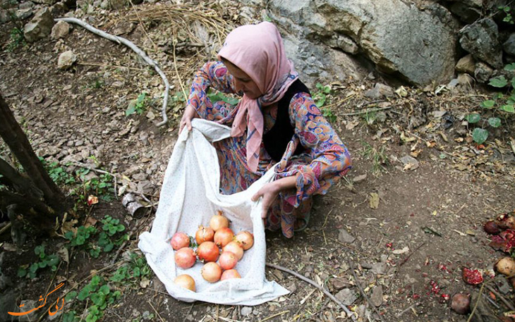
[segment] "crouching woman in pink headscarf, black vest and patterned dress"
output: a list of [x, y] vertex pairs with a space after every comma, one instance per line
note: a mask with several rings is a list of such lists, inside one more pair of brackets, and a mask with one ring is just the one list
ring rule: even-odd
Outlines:
[[[349, 151], [298, 80], [275, 25], [236, 28], [218, 58], [195, 74], [180, 131], [198, 117], [232, 126], [231, 137], [214, 143], [223, 194], [246, 190], [279, 162], [253, 201], [262, 197], [265, 227], [293, 237], [308, 224], [313, 194], [351, 168]], [[237, 106], [212, 102], [209, 87], [243, 97]]]

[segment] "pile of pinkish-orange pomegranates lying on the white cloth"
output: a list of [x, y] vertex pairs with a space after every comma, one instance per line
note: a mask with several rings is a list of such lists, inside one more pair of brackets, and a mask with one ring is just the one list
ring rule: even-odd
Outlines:
[[[223, 216], [222, 211], [218, 211], [210, 219], [208, 227], [199, 226], [195, 233], [195, 242], [196, 245], [191, 243], [190, 237], [182, 232], [171, 237], [175, 263], [180, 268], [190, 268], [197, 260], [202, 261], [202, 278], [209, 283], [215, 283], [229, 278], [241, 278], [235, 267], [241, 261], [243, 252], [253, 247], [254, 236], [248, 231], [235, 235], [229, 228], [229, 219]], [[178, 275], [174, 283], [195, 292], [195, 280], [188, 274]]]

